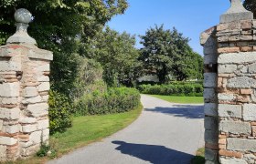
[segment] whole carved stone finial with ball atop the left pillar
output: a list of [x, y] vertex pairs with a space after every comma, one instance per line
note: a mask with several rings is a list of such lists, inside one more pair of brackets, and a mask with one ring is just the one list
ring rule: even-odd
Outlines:
[[27, 34], [28, 24], [33, 20], [33, 16], [31, 15], [31, 13], [25, 8], [20, 8], [16, 10], [15, 19], [16, 19], [16, 34], [13, 36], [10, 36], [7, 39], [7, 44], [27, 43], [31, 45], [37, 45], [36, 40], [28, 36]]

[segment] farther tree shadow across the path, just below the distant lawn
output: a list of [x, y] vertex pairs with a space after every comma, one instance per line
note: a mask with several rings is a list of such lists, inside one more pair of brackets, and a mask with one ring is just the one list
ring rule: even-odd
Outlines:
[[164, 113], [175, 117], [182, 118], [204, 118], [204, 106], [191, 105], [173, 105], [170, 108], [144, 108], [145, 111], [153, 111], [157, 113]]

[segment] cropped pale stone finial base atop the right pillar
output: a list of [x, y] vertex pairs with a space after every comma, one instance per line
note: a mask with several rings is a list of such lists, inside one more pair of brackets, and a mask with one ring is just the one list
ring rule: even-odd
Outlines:
[[220, 15], [220, 23], [229, 23], [237, 20], [253, 19], [253, 14], [243, 7], [240, 0], [229, 1], [231, 2], [231, 6], [224, 15]]

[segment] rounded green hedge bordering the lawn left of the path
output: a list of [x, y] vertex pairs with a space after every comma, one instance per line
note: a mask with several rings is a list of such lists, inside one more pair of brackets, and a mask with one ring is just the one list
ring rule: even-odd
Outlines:
[[75, 115], [103, 115], [129, 111], [140, 104], [140, 93], [134, 88], [114, 87], [85, 94], [74, 103]]

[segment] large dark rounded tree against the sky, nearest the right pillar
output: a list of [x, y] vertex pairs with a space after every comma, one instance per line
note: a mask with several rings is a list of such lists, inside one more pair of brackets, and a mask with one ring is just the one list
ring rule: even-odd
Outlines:
[[141, 38], [144, 47], [140, 60], [146, 74], [155, 73], [161, 84], [170, 79], [202, 79], [202, 56], [192, 51], [189, 39], [178, 33], [176, 28], [151, 27]]

